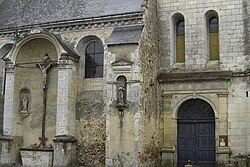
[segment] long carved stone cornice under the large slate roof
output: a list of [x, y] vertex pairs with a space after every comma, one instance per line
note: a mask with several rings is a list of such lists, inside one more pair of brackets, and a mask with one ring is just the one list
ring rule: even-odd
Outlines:
[[143, 24], [142, 12], [0, 29], [0, 38], [18, 38], [25, 36], [36, 26], [52, 33], [58, 33], [135, 24]]

